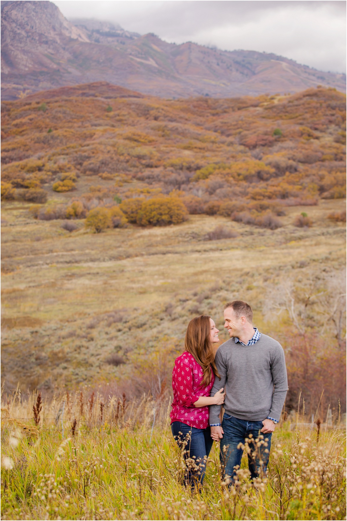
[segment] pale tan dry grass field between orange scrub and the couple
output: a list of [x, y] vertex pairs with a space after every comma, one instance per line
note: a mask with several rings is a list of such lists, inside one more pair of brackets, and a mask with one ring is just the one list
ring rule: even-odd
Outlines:
[[[305, 286], [317, 274], [343, 270], [345, 227], [327, 219], [343, 207], [343, 200], [289, 207], [277, 230], [190, 215], [181, 225], [95, 234], [82, 221], [70, 233], [60, 220], [33, 219], [30, 204], [4, 202], [5, 388], [18, 381], [22, 389], [46, 391], [120, 381], [138, 353], [162, 343], [181, 350], [187, 322], [199, 313], [211, 314], [223, 330], [222, 306], [230, 299], [250, 302], [255, 324], [278, 333], [290, 320], [264, 319], [274, 284], [290, 279]], [[293, 226], [303, 211], [310, 228]], [[218, 226], [236, 237], [206, 240]], [[112, 365], [114, 354], [127, 364]]]

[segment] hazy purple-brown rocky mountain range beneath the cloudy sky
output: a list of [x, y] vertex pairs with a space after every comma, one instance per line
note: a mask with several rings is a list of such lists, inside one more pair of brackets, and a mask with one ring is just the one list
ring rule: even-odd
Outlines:
[[1, 35], [4, 100], [96, 81], [160, 97], [293, 93], [317, 84], [345, 91], [343, 74], [275, 54], [175, 45], [109, 22], [70, 22], [46, 1], [2, 2]]

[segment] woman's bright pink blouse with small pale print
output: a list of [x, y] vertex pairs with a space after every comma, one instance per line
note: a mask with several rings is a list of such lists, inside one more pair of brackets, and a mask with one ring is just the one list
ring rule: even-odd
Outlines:
[[182, 421], [189, 427], [205, 429], [209, 425], [209, 407], [195, 407], [200, 396], [210, 396], [214, 383], [214, 374], [208, 386], [202, 387], [202, 367], [194, 356], [185, 351], [175, 360], [172, 371], [174, 400], [170, 414], [171, 423]]

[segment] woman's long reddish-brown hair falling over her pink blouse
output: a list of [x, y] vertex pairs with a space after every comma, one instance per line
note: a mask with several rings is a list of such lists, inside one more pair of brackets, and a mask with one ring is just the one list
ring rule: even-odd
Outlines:
[[207, 386], [210, 383], [212, 378], [211, 369], [215, 376], [221, 378], [214, 362], [210, 332], [210, 317], [200, 315], [190, 320], [184, 340], [185, 350], [194, 356], [195, 360], [202, 367], [202, 386]]

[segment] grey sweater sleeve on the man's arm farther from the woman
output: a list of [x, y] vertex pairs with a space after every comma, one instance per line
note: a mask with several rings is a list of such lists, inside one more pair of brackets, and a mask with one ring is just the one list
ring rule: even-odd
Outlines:
[[268, 416], [279, 420], [288, 391], [285, 352], [280, 344], [278, 344], [272, 356], [271, 373], [274, 380], [274, 393]]

